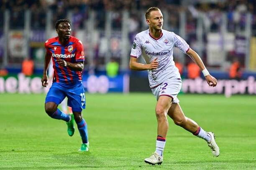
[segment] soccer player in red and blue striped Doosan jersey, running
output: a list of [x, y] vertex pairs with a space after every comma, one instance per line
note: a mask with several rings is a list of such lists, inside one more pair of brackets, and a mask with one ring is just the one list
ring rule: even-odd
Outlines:
[[[83, 45], [79, 39], [70, 36], [70, 20], [56, 21], [55, 28], [58, 36], [45, 42], [46, 55], [41, 80], [44, 87], [48, 85], [46, 70], [51, 59], [54, 67], [53, 83], [46, 96], [45, 111], [50, 117], [67, 122], [69, 136], [74, 134], [75, 120], [82, 138], [82, 145], [79, 150], [88, 151], [87, 123], [82, 117], [82, 109], [85, 109], [84, 87], [82, 85]], [[65, 97], [68, 98], [68, 106], [72, 107], [73, 113], [65, 114], [57, 108]]]

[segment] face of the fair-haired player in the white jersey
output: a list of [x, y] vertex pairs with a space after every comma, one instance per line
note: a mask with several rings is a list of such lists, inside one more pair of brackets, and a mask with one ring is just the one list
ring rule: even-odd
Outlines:
[[151, 11], [150, 17], [146, 21], [150, 28], [153, 28], [155, 30], [161, 30], [163, 27], [164, 19], [161, 11], [157, 10], [157, 11]]

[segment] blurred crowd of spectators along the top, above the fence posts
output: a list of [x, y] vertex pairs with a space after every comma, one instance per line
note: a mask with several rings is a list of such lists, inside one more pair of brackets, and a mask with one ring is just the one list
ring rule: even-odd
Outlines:
[[[22, 13], [26, 9], [31, 9], [33, 13], [32, 28], [45, 27], [45, 15], [49, 9], [54, 10], [53, 21], [59, 18], [65, 18], [67, 11], [74, 10], [74, 28], [82, 28], [83, 20], [88, 17], [89, 10], [97, 11], [97, 27], [104, 27], [105, 11], [111, 10], [120, 12], [122, 10], [129, 10], [132, 13], [131, 18], [135, 22], [131, 30], [136, 30], [142, 25], [141, 20], [136, 19], [138, 10], [146, 10], [148, 7], [156, 6], [172, 11], [172, 14], [167, 18], [170, 21], [171, 27], [175, 30], [179, 25], [179, 11], [184, 10], [188, 15], [187, 31], [193, 32], [195, 30], [195, 20], [198, 13], [205, 13], [207, 20], [206, 25], [211, 31], [218, 31], [221, 25], [222, 12], [227, 12], [228, 15], [228, 30], [235, 31], [235, 26], [239, 25], [241, 28], [245, 27], [245, 14], [250, 12], [253, 14], [252, 30], [253, 35], [256, 35], [256, 5], [255, 0], [226, 0], [226, 1], [202, 1], [202, 0], [2, 0], [1, 13], [5, 9], [11, 10], [13, 28], [23, 27], [24, 17]], [[113, 15], [113, 27], [121, 27], [121, 16]], [[2, 18], [1, 18], [2, 19]], [[1, 21], [3, 23], [3, 21]], [[138, 30], [136, 30], [138, 31]]]

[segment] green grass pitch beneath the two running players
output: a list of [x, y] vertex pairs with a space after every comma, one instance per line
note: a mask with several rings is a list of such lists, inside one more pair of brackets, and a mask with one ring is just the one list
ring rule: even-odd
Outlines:
[[218, 158], [204, 140], [169, 119], [164, 162], [144, 163], [155, 150], [157, 135], [156, 100], [150, 93], [86, 94], [88, 153], [77, 151], [77, 128], [69, 137], [66, 123], [44, 112], [45, 95], [0, 94], [0, 170], [256, 169], [255, 95], [178, 97], [187, 117], [215, 133]]

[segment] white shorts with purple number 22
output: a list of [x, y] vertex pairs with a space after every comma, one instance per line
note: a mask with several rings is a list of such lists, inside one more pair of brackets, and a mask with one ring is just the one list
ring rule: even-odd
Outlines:
[[178, 103], [179, 99], [177, 95], [181, 89], [182, 81], [181, 79], [168, 79], [162, 82], [160, 85], [152, 88], [152, 93], [156, 96], [156, 100], [159, 99], [159, 96], [165, 95], [172, 97], [173, 103]]

